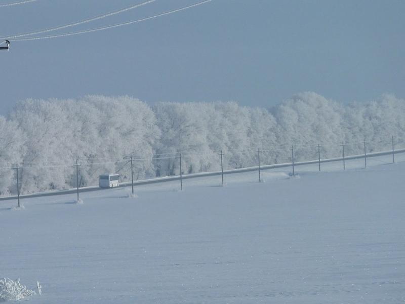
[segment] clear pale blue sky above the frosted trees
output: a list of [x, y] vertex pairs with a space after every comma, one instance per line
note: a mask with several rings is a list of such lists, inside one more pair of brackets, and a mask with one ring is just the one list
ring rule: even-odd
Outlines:
[[[157, 0], [68, 30], [191, 4]], [[0, 4], [14, 2], [1, 0]], [[37, 0], [0, 8], [0, 35], [57, 26], [141, 0]], [[302, 91], [339, 102], [405, 97], [405, 1], [211, 3], [142, 23], [0, 51], [0, 113], [26, 98], [130, 95], [269, 107]]]

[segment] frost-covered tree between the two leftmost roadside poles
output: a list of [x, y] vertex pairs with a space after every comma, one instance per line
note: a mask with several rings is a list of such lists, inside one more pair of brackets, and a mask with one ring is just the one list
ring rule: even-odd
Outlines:
[[[20, 170], [21, 192], [44, 191], [65, 185], [65, 144], [71, 134], [66, 130], [66, 115], [58, 102], [26, 100], [11, 115], [25, 134]], [[31, 168], [26, 168], [31, 167]]]

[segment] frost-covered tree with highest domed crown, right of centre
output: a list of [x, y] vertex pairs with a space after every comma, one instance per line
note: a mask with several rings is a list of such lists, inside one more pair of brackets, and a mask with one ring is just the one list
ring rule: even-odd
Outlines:
[[277, 162], [286, 161], [292, 144], [297, 147], [297, 160], [314, 159], [317, 144], [322, 146], [323, 158], [337, 156], [337, 145], [344, 140], [342, 105], [305, 92], [274, 107], [272, 112], [277, 120], [276, 140], [279, 145], [288, 145], [276, 154]]

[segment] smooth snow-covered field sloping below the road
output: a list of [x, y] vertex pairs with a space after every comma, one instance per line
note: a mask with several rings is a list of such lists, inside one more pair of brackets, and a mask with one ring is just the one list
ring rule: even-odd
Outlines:
[[31, 303], [404, 302], [405, 162], [389, 162], [0, 202], [0, 277], [41, 281]]

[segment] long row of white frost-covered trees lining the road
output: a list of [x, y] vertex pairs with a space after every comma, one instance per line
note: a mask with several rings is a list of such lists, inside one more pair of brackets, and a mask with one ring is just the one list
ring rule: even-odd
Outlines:
[[311, 92], [270, 109], [234, 102], [159, 103], [87, 96], [77, 100], [26, 100], [7, 118], [0, 116], [0, 195], [16, 193], [16, 163], [22, 193], [97, 184], [99, 174], [117, 172], [136, 179], [241, 168], [340, 155], [342, 141], [368, 152], [387, 147], [391, 136], [405, 137], [405, 103], [391, 95], [368, 104], [342, 105]]

